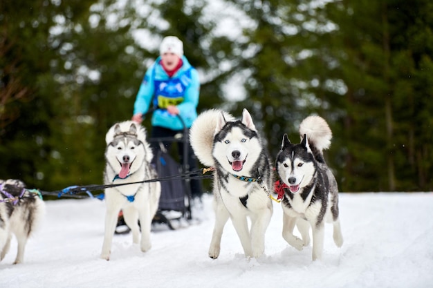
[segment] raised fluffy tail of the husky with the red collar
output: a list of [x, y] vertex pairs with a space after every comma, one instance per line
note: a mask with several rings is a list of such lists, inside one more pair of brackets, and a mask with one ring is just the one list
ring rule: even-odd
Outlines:
[[322, 152], [331, 146], [332, 131], [328, 123], [320, 116], [308, 116], [300, 124], [301, 139], [306, 134], [308, 144]]

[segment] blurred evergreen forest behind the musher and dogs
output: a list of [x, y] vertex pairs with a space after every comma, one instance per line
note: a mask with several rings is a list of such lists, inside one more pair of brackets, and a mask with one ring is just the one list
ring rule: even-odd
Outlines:
[[0, 1], [0, 178], [101, 184], [105, 133], [167, 35], [199, 112], [247, 108], [273, 159], [315, 114], [340, 191], [433, 190], [431, 0]]

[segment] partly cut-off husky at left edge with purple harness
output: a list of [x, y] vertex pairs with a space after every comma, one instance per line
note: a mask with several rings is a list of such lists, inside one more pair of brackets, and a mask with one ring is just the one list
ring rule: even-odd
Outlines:
[[[45, 213], [44, 201], [25, 188], [20, 180], [0, 180], [0, 260], [3, 260], [9, 251], [13, 233], [18, 242], [14, 264], [24, 262], [27, 240], [39, 227]], [[17, 197], [20, 199], [5, 202], [7, 198]]]

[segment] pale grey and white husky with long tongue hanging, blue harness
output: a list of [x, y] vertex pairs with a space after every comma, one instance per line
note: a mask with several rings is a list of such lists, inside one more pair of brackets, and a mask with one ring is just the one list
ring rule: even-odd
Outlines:
[[[156, 171], [150, 164], [153, 153], [146, 141], [145, 128], [140, 124], [132, 121], [114, 124], [107, 132], [105, 141], [107, 163], [104, 184], [127, 184], [156, 178]], [[158, 209], [160, 192], [159, 182], [127, 184], [105, 189], [107, 213], [101, 258], [110, 258], [113, 233], [121, 209], [125, 222], [131, 228], [133, 243], [138, 244], [141, 228], [141, 251], [150, 249], [151, 221]]]

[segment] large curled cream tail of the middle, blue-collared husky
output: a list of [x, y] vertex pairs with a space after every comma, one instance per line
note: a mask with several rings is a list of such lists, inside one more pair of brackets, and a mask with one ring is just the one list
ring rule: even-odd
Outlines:
[[199, 158], [201, 164], [214, 166], [212, 147], [214, 135], [219, 117], [223, 113], [226, 121], [233, 121], [234, 117], [219, 109], [204, 111], [197, 117], [190, 129], [190, 142], [194, 154]]

